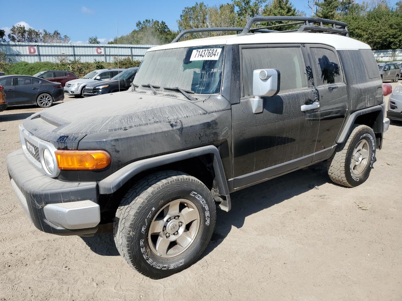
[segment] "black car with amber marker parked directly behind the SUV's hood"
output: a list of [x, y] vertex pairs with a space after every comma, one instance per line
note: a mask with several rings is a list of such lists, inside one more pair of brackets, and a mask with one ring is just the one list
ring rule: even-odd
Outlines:
[[107, 81], [89, 84], [85, 87], [82, 95], [88, 97], [128, 90], [133, 82], [137, 70], [138, 67], [131, 67]]

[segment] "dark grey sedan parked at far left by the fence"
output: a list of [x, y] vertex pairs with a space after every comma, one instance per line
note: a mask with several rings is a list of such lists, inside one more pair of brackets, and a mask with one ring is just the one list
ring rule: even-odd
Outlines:
[[53, 102], [64, 99], [60, 83], [28, 75], [0, 76], [0, 84], [6, 92], [8, 106], [37, 104], [41, 108], [50, 107]]

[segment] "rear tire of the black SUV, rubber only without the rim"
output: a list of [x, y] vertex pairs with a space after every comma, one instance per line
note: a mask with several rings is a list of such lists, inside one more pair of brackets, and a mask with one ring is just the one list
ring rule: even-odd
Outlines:
[[[359, 176], [351, 170], [353, 150], [362, 139], [367, 140], [369, 146], [368, 163]], [[332, 157], [327, 161], [328, 175], [336, 183], [346, 187], [356, 187], [364, 183], [369, 177], [371, 167], [375, 161], [375, 134], [369, 126], [355, 125], [345, 143], [336, 146]]]

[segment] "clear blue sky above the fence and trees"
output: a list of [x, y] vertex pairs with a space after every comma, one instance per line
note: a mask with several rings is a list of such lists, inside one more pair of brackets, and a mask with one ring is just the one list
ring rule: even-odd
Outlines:
[[[358, 0], [361, 3], [362, 0]], [[390, 0], [394, 4], [397, 0]], [[58, 30], [62, 35], [68, 35], [71, 42], [86, 43], [88, 37], [97, 36], [101, 43], [107, 43], [117, 36], [117, 19], [119, 35], [126, 35], [135, 28], [138, 20], [163, 20], [177, 30], [180, 13], [185, 6], [192, 6], [192, 0], [98, 0], [78, 1], [26, 1], [18, 3], [4, 1], [1, 5], [0, 28], [8, 31], [16, 23], [24, 24], [26, 28], [47, 31]], [[201, 1], [198, 1], [201, 2]], [[204, 0], [210, 6], [230, 2], [219, 0]], [[293, 0], [298, 10], [307, 11], [307, 0]]]

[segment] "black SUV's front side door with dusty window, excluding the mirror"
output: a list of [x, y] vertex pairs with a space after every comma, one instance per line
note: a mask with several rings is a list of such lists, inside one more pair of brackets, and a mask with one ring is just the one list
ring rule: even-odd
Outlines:
[[[263, 112], [254, 114], [252, 73], [266, 68], [279, 70], [280, 92], [263, 98]], [[234, 187], [312, 162], [320, 115], [318, 109], [302, 110], [318, 100], [308, 70], [302, 45], [240, 46], [241, 98], [232, 105]]]

